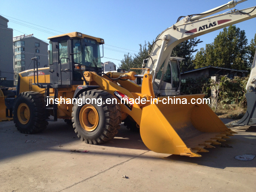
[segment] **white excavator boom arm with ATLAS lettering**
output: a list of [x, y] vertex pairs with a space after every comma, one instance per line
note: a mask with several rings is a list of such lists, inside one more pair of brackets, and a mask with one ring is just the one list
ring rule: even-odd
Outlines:
[[[256, 17], [256, 7], [251, 7], [243, 10], [233, 9], [222, 14], [202, 18], [227, 8], [233, 8], [238, 3], [242, 2], [244, 1], [231, 1], [223, 6], [198, 14], [197, 16], [186, 16], [185, 18], [178, 20], [176, 24], [167, 28], [158, 36], [150, 54], [152, 59], [148, 59], [145, 66], [145, 68], [152, 69], [151, 74], [153, 75], [155, 94], [167, 96], [169, 95], [168, 93], [170, 93], [168, 89], [165, 89], [166, 86], [161, 87], [162, 78], [156, 79], [156, 74], [160, 71], [160, 68], [164, 63], [161, 70], [162, 76], [164, 76], [167, 71], [168, 58], [170, 58], [175, 46], [185, 40]], [[146, 72], [144, 72], [144, 74], [145, 73]], [[156, 91], [159, 90], [159, 87], [160, 92]], [[172, 87], [172, 85], [170, 84], [168, 87]]]

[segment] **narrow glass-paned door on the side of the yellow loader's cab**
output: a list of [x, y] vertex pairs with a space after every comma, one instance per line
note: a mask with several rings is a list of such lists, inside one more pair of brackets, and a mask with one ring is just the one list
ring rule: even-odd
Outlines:
[[71, 86], [70, 40], [59, 39], [58, 45], [58, 84]]

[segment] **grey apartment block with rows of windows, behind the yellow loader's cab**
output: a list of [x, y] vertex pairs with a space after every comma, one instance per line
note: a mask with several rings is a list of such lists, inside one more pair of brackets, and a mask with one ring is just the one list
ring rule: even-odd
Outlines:
[[14, 84], [17, 84], [18, 73], [34, 69], [34, 61], [31, 58], [37, 57], [38, 68], [48, 66], [48, 45], [33, 34], [13, 37]]

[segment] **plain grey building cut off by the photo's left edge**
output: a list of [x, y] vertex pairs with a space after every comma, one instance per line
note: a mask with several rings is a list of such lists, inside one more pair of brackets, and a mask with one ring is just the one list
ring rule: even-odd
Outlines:
[[13, 86], [13, 29], [8, 28], [9, 20], [0, 15], [0, 86]]

